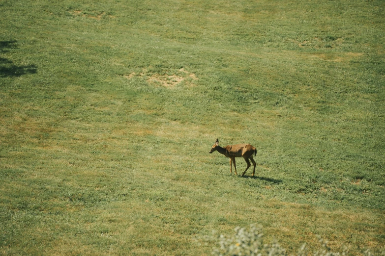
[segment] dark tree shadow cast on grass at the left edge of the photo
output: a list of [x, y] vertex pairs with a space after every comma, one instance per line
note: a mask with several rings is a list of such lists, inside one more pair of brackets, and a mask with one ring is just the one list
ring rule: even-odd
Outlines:
[[[16, 41], [0, 41], [0, 52], [7, 52], [8, 49], [16, 48]], [[37, 73], [37, 66], [16, 65], [12, 60], [0, 58], [0, 77], [20, 77], [26, 74]]]

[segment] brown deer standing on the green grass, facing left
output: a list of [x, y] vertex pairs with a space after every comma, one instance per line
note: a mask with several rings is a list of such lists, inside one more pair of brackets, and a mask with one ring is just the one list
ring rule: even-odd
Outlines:
[[234, 169], [236, 170], [237, 175], [237, 167], [235, 163], [236, 157], [243, 157], [247, 163], [246, 170], [242, 173], [241, 177], [245, 175], [247, 169], [251, 166], [249, 159], [254, 165], [253, 175], [255, 173], [255, 166], [257, 163], [253, 159], [254, 156], [257, 155], [257, 149], [251, 146], [250, 144], [236, 144], [236, 145], [228, 145], [225, 148], [222, 148], [219, 146], [219, 140], [216, 139], [214, 145], [212, 145], [212, 148], [209, 153], [213, 153], [214, 151], [218, 151], [220, 154], [224, 154], [226, 157], [230, 158], [230, 173], [233, 173], [231, 163], [234, 163]]

